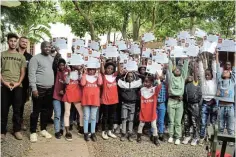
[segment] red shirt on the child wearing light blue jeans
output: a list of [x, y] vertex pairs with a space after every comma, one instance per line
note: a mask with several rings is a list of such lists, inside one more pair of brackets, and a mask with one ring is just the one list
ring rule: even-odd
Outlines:
[[102, 85], [102, 77], [84, 74], [81, 79], [83, 86], [83, 106], [100, 106], [100, 86]]

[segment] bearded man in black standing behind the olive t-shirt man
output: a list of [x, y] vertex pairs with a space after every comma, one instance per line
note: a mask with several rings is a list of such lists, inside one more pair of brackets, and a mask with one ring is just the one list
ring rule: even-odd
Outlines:
[[27, 37], [20, 37], [18, 52], [25, 56], [25, 60], [27, 63], [25, 78], [22, 82], [23, 91], [22, 91], [22, 105], [21, 105], [21, 112], [20, 112], [21, 129], [24, 131], [26, 131], [26, 129], [27, 129], [23, 123], [24, 106], [27, 101], [27, 97], [29, 96], [28, 63], [29, 63], [30, 59], [32, 58], [32, 55], [27, 52], [27, 45], [28, 45], [28, 38]]

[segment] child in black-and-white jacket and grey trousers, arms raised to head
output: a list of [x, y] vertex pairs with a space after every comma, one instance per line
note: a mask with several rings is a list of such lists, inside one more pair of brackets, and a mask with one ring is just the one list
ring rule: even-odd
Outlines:
[[142, 80], [137, 79], [133, 72], [127, 72], [123, 79], [118, 80], [121, 97], [121, 119], [122, 119], [122, 135], [121, 141], [125, 140], [126, 136], [126, 122], [129, 121], [128, 140], [132, 140], [133, 121], [135, 113], [135, 104], [138, 99], [138, 90], [142, 85]]

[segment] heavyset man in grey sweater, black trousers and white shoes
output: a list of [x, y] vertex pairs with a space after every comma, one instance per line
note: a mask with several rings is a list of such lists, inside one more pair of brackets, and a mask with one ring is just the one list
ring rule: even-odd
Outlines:
[[37, 122], [40, 113], [41, 135], [45, 138], [51, 138], [46, 131], [48, 110], [52, 104], [52, 87], [54, 84], [54, 75], [52, 70], [53, 58], [51, 54], [51, 45], [44, 41], [41, 43], [41, 53], [31, 58], [29, 63], [29, 82], [33, 93], [33, 112], [30, 115], [30, 141], [37, 141]]

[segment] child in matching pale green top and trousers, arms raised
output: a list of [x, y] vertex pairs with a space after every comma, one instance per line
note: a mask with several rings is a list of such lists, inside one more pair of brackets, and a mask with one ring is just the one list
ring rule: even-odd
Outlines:
[[176, 67], [173, 70], [172, 61], [169, 60], [168, 82], [169, 82], [169, 100], [167, 106], [167, 112], [169, 116], [169, 143], [173, 143], [173, 135], [175, 135], [175, 144], [180, 144], [181, 137], [181, 120], [183, 116], [183, 94], [185, 79], [188, 74], [188, 60], [184, 61], [182, 70]]

